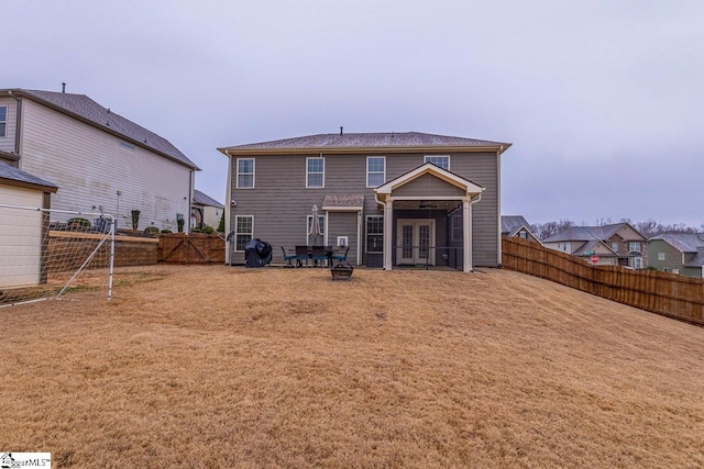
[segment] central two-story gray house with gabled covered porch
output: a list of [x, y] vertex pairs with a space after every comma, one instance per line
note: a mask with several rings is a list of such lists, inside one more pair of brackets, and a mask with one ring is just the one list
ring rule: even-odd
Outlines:
[[[353, 265], [501, 265], [506, 143], [409, 133], [320, 134], [219, 148], [230, 158], [228, 256], [252, 237], [290, 249], [349, 247]], [[235, 259], [237, 260], [237, 259]], [[228, 259], [232, 264], [232, 259]]]

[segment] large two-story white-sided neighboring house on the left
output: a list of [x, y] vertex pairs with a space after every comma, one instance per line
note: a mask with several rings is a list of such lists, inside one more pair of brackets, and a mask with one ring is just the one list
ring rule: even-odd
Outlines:
[[0, 89], [0, 160], [56, 183], [53, 209], [102, 209], [118, 227], [132, 227], [131, 212], [139, 210], [140, 230], [176, 231], [178, 219], [188, 230], [199, 168], [165, 138], [87, 96]]

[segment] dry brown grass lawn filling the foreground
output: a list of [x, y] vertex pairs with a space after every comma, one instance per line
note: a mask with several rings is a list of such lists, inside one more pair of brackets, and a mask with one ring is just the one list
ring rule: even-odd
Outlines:
[[504, 270], [119, 269], [0, 310], [55, 467], [703, 467], [704, 328]]

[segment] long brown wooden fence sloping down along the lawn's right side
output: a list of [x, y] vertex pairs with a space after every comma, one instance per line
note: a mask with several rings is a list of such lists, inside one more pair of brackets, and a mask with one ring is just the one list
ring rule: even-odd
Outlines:
[[704, 325], [704, 279], [586, 261], [521, 238], [503, 238], [507, 269], [552, 280], [587, 293]]

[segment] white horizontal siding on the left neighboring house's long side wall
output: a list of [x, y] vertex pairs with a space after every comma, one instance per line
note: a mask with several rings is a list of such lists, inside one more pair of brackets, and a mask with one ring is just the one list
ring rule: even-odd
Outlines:
[[96, 212], [102, 205], [119, 227], [132, 227], [132, 210], [142, 212], [140, 228], [176, 231], [176, 214], [189, 217], [188, 168], [34, 101], [23, 105], [20, 167], [59, 187], [53, 209]]

